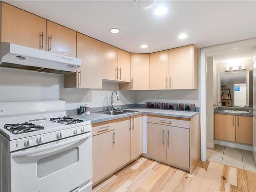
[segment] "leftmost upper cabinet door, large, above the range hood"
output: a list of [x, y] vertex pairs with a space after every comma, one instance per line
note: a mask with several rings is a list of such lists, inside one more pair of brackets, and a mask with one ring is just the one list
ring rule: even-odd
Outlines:
[[1, 41], [46, 50], [46, 19], [2, 2]]

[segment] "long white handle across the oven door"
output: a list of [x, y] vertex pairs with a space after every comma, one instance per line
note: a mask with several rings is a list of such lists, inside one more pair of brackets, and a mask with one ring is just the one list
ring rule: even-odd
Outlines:
[[[77, 142], [79, 142], [83, 139], [89, 138], [91, 135], [92, 135], [91, 133], [86, 133], [83, 136], [77, 137], [77, 138], [72, 139], [72, 140], [68, 140], [68, 141], [64, 141], [64, 142], [61, 142], [61, 143], [53, 144], [53, 145], [46, 146], [46, 147], [43, 147], [43, 148], [37, 148], [35, 150], [31, 150], [31, 151], [27, 151], [27, 152], [22, 152], [22, 153], [17, 153], [17, 154], [14, 153], [12, 155], [12, 158], [22, 158], [22, 157], [29, 156], [29, 155], [32, 155], [32, 154], [34, 155], [34, 154], [37, 154], [37, 153], [40, 153], [40, 152], [45, 152], [45, 151], [48, 151], [48, 150], [52, 150], [53, 148], [61, 147], [63, 145], [74, 144], [74, 143], [77, 143]], [[59, 151], [62, 148], [59, 148], [56, 151]]]

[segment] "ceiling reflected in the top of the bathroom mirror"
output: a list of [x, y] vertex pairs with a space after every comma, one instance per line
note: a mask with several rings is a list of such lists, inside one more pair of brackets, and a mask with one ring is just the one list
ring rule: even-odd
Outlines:
[[245, 82], [246, 72], [233, 72], [220, 74], [221, 82]]

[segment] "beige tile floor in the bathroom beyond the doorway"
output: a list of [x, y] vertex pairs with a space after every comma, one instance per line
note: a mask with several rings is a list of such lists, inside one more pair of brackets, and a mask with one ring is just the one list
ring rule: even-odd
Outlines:
[[213, 150], [207, 148], [207, 160], [256, 172], [252, 152], [239, 148], [215, 145]]

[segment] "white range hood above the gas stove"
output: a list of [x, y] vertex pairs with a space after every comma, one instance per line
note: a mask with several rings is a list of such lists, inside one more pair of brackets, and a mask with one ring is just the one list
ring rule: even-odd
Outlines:
[[0, 67], [67, 74], [81, 66], [81, 59], [63, 56], [44, 50], [2, 42]]

